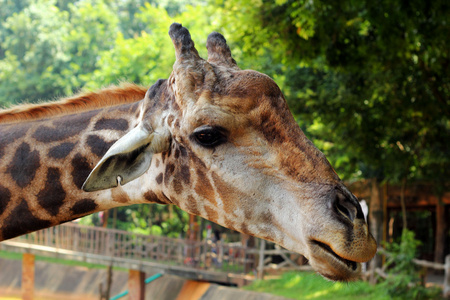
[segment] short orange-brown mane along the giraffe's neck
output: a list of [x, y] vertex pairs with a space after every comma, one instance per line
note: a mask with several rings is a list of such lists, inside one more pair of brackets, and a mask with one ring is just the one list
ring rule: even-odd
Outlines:
[[0, 110], [0, 123], [42, 119], [105, 106], [132, 103], [144, 98], [147, 87], [122, 83], [98, 91], [81, 92], [54, 102], [22, 104]]

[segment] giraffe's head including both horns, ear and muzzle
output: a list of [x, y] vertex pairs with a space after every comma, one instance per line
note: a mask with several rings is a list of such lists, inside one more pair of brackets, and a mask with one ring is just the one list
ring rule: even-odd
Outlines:
[[186, 28], [172, 24], [169, 35], [172, 74], [149, 89], [138, 125], [83, 188], [133, 180], [149, 200], [302, 253], [329, 279], [356, 279], [376, 243], [357, 199], [298, 127], [276, 83], [240, 70], [218, 33], [208, 37], [208, 60]]

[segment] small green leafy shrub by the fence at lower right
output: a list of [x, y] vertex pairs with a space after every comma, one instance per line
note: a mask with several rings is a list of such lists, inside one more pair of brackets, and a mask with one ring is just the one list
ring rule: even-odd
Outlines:
[[420, 244], [414, 232], [405, 229], [399, 242], [385, 245], [384, 268], [387, 268], [388, 277], [380, 287], [394, 299], [440, 299], [439, 289], [425, 288], [420, 284], [419, 268], [413, 263]]

